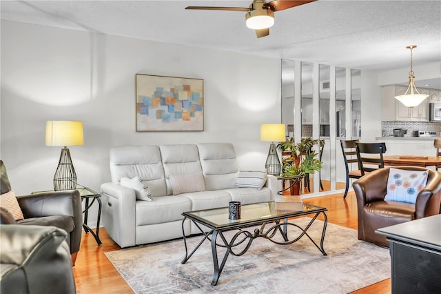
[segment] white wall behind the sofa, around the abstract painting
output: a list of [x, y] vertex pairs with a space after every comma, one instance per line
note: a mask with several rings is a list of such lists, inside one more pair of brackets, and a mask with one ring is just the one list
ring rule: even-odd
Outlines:
[[[136, 73], [204, 79], [205, 131], [136, 133]], [[112, 146], [231, 142], [240, 168], [264, 168], [280, 59], [2, 21], [0, 156], [17, 195], [52, 188], [61, 147], [44, 144], [48, 120], [83, 121], [70, 153], [78, 183], [97, 191]]]

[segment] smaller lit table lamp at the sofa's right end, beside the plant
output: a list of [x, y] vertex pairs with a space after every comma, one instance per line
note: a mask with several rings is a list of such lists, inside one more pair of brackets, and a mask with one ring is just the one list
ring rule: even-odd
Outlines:
[[268, 175], [280, 175], [280, 161], [276, 151], [275, 141], [285, 141], [285, 124], [262, 124], [260, 126], [260, 141], [270, 141], [265, 168]]

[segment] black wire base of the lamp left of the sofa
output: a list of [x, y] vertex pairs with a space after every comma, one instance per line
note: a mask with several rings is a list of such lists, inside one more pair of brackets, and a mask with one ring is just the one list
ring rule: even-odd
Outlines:
[[70, 158], [69, 148], [64, 147], [61, 149], [60, 161], [54, 175], [54, 190], [74, 189], [76, 189], [76, 173]]

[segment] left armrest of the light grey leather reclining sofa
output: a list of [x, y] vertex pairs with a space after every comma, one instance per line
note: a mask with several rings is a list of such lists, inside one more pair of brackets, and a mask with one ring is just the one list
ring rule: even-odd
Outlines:
[[110, 237], [122, 248], [135, 246], [136, 196], [132, 188], [116, 183], [101, 184], [103, 223]]

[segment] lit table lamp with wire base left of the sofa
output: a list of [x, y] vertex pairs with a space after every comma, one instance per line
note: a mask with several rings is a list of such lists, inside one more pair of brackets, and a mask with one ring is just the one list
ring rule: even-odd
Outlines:
[[46, 121], [46, 146], [63, 146], [54, 175], [54, 190], [76, 189], [76, 173], [67, 146], [83, 145], [83, 121]]

